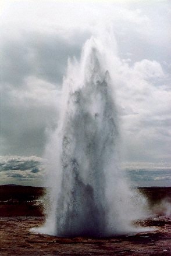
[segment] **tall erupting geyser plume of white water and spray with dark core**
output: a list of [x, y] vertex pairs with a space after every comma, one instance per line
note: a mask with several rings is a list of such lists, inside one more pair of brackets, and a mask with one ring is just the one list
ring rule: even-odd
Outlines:
[[132, 232], [131, 222], [142, 217], [143, 199], [129, 189], [118, 166], [110, 54], [91, 38], [80, 62], [69, 63], [58, 129], [47, 147], [50, 205], [40, 232], [111, 236]]

